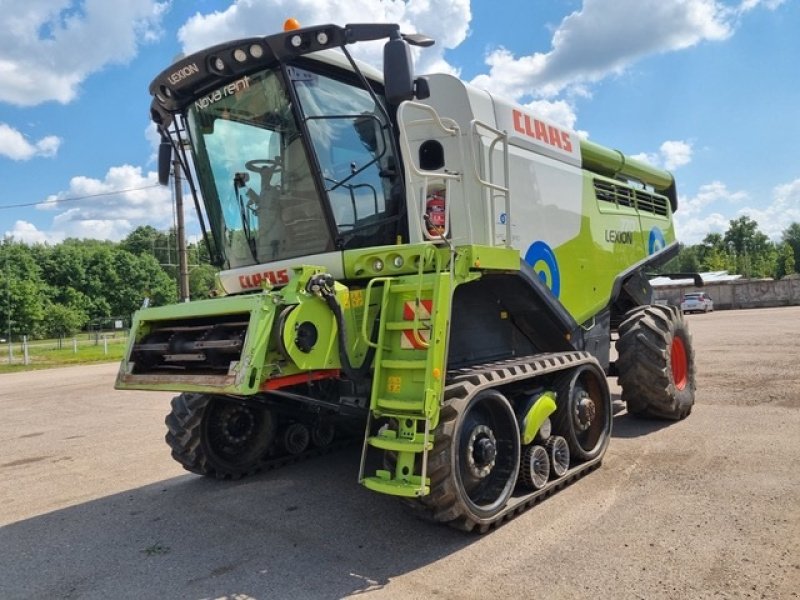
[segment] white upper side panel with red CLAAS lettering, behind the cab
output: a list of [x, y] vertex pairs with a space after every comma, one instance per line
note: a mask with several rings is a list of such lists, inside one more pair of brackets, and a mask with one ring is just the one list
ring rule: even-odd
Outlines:
[[[428, 82], [431, 96], [422, 103], [431, 106], [445, 124], [452, 120], [457, 134], [445, 134], [424, 111], [405, 112], [402, 127], [408, 146], [404, 154], [410, 156], [404, 158], [407, 181], [412, 182], [408, 194], [413, 198], [409, 203], [411, 241], [425, 239], [419, 225], [425, 208], [419, 188], [430, 187], [436, 173], [426, 173], [427, 178], [421, 180], [419, 174], [414, 176], [408, 163], [419, 165], [420, 144], [430, 139], [436, 139], [444, 148], [445, 166], [438, 172], [458, 175], [449, 181], [448, 190], [452, 208], [449, 237], [453, 243], [506, 243], [509, 216], [505, 198], [485, 182], [508, 188], [513, 215], [510, 245], [522, 256], [536, 241], [555, 248], [576, 237], [581, 226], [583, 185], [577, 134], [453, 76], [431, 75]], [[425, 119], [430, 123], [420, 124]], [[476, 127], [476, 122], [507, 135], [507, 181], [502, 144], [496, 144], [490, 156], [495, 136], [486, 128]]]

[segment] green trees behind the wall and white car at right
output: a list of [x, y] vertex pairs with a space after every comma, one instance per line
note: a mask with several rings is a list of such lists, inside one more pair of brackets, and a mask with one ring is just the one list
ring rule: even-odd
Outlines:
[[682, 245], [659, 271], [728, 271], [748, 279], [782, 279], [800, 272], [800, 223], [789, 225], [780, 241], [773, 242], [750, 217], [733, 219], [725, 233], [709, 233], [700, 244]]

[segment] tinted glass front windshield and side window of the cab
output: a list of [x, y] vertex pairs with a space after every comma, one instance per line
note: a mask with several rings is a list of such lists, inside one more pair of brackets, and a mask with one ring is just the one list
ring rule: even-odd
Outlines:
[[282, 75], [271, 70], [202, 96], [188, 111], [197, 178], [225, 268], [391, 243], [392, 228], [383, 226], [393, 221], [393, 161], [372, 96], [325, 75], [288, 72], [299, 115]]

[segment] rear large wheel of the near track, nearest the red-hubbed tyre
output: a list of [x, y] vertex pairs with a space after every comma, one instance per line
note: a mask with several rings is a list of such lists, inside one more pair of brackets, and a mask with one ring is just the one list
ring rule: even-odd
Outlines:
[[577, 460], [600, 456], [608, 445], [612, 420], [605, 373], [597, 365], [581, 365], [562, 375], [555, 388], [554, 433], [566, 439], [570, 456]]

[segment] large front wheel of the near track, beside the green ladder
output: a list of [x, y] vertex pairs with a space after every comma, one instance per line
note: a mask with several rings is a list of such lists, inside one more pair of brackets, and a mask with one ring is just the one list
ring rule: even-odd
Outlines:
[[436, 521], [488, 526], [517, 483], [519, 424], [500, 392], [484, 390], [443, 407], [429, 454], [431, 493], [418, 503]]

